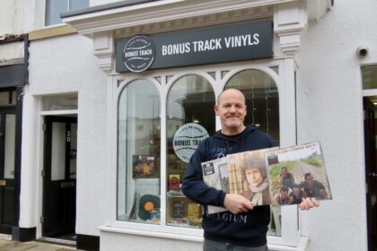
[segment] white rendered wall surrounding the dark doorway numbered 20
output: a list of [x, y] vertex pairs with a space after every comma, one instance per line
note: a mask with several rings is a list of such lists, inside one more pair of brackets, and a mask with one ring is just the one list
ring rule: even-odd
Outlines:
[[[92, 39], [81, 35], [69, 35], [52, 39], [31, 41], [30, 46], [30, 85], [25, 95], [39, 100], [39, 95], [78, 92], [78, 129], [77, 129], [77, 211], [76, 232], [85, 235], [99, 236], [98, 226], [103, 224], [106, 204], [103, 198], [106, 193], [106, 78], [101, 72], [97, 58], [92, 54]], [[31, 102], [28, 101], [28, 104]], [[31, 110], [40, 110], [38, 105], [23, 108], [23, 117], [28, 119]], [[39, 114], [36, 113], [35, 119]], [[30, 126], [27, 129], [25, 127]], [[37, 128], [33, 128], [36, 127]], [[38, 127], [39, 126], [39, 127]], [[40, 125], [24, 124], [26, 131], [40, 132]], [[22, 154], [22, 163], [27, 163], [27, 158], [36, 158], [40, 155], [42, 143], [35, 147], [31, 137], [22, 135], [22, 143], [34, 146], [23, 152], [34, 151], [32, 154]], [[42, 163], [39, 163], [41, 165]], [[22, 166], [23, 169], [23, 166]], [[22, 176], [22, 186], [29, 183], [35, 187], [38, 184], [39, 166], [32, 167], [33, 175], [25, 180]], [[22, 187], [22, 195], [27, 190]], [[37, 193], [35, 194], [37, 196]], [[29, 214], [38, 205], [38, 200], [27, 200], [21, 196], [21, 227], [22, 222], [29, 222], [23, 216]], [[36, 221], [37, 217], [34, 218]], [[34, 222], [38, 224], [38, 222]], [[35, 226], [35, 225], [34, 225]]]

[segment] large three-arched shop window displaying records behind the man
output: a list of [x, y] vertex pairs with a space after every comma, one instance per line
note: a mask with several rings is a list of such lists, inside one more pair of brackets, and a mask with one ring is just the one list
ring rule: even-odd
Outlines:
[[[245, 125], [258, 126], [277, 145], [294, 144], [292, 74], [280, 76], [279, 66], [246, 67], [238, 71], [224, 67], [215, 74], [213, 70], [184, 75], [169, 71], [161, 75], [145, 74], [145, 79], [117, 80], [116, 226], [183, 236], [202, 235], [197, 229], [201, 228], [203, 207], [181, 193], [181, 180], [196, 149], [192, 139], [201, 142], [220, 129], [214, 111], [215, 96], [225, 89], [237, 88], [245, 94], [248, 107]], [[285, 79], [285, 75], [289, 78]], [[285, 91], [281, 93], [280, 82], [285, 82]], [[203, 134], [191, 135], [188, 132], [192, 128], [199, 128]], [[272, 208], [269, 243], [294, 246], [298, 226], [297, 207], [281, 211]]]

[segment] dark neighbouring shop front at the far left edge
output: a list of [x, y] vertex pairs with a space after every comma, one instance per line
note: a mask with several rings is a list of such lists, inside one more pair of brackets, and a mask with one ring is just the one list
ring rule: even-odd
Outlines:
[[20, 228], [18, 222], [27, 45], [27, 36], [8, 36], [0, 41], [0, 235], [16, 240], [30, 238], [30, 229]]

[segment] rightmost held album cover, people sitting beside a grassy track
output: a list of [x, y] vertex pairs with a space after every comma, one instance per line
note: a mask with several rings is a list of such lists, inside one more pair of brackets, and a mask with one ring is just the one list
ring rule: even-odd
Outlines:
[[332, 198], [320, 143], [306, 143], [266, 154], [273, 205], [297, 204], [304, 197]]

